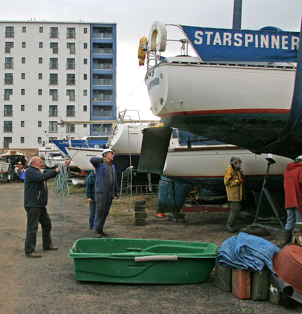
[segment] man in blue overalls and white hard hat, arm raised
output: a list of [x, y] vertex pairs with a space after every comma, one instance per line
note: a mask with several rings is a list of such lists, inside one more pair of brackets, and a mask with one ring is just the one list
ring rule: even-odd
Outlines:
[[113, 151], [111, 149], [104, 149], [102, 156], [103, 158], [92, 157], [90, 159], [96, 172], [96, 215], [93, 224], [94, 238], [108, 236], [107, 233], [103, 231], [103, 226], [114, 196], [116, 196], [117, 199], [120, 196], [118, 194], [117, 174], [112, 164], [114, 158]]

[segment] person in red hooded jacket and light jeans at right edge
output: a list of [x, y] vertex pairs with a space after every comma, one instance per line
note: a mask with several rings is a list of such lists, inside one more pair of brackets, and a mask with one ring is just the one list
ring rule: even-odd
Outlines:
[[288, 164], [284, 171], [285, 208], [285, 245], [291, 242], [292, 230], [296, 222], [302, 222], [302, 155]]

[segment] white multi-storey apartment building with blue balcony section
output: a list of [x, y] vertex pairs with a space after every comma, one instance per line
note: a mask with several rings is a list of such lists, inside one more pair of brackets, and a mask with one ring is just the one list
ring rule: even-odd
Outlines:
[[36, 149], [68, 133], [90, 135], [89, 124], [68, 132], [58, 123], [104, 120], [114, 112], [115, 24], [0, 21], [0, 30], [2, 149]]

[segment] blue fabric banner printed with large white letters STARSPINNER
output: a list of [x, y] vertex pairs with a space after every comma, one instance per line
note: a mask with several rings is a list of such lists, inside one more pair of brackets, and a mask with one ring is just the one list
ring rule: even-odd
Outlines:
[[299, 32], [180, 27], [206, 62], [297, 62]]

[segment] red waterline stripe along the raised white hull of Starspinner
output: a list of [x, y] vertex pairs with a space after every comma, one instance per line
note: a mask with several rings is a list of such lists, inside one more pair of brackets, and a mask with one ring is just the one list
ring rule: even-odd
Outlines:
[[222, 115], [222, 114], [257, 114], [257, 113], [281, 113], [289, 114], [289, 109], [221, 109], [221, 110], [197, 110], [197, 111], [180, 111], [180, 112], [170, 112], [159, 115], [161, 118], [169, 116], [196, 116], [196, 115]]

